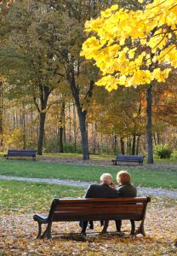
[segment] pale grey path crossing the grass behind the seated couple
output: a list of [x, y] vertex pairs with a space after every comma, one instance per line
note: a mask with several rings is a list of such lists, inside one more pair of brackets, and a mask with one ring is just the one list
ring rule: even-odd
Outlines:
[[[76, 186], [83, 187], [84, 189], [88, 188], [90, 183], [74, 181], [74, 180], [61, 180], [54, 178], [37, 178], [37, 177], [12, 177], [0, 175], [0, 179], [5, 180], [17, 180], [17, 181], [26, 181], [26, 182], [36, 182], [36, 183], [53, 183], [58, 185], [67, 185], [67, 186]], [[142, 188], [138, 187], [138, 194], [140, 195], [154, 195], [154, 196], [162, 196], [168, 198], [177, 199], [177, 190], [167, 190], [167, 189], [152, 189], [152, 188]]]

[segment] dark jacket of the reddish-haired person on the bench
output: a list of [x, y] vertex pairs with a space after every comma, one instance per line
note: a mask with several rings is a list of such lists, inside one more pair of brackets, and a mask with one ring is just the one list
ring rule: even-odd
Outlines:
[[117, 197], [136, 197], [137, 190], [134, 185], [126, 183], [118, 186]]

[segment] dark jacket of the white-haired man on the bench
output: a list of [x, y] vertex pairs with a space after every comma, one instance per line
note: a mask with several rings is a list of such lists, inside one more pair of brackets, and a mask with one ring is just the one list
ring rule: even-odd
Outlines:
[[117, 198], [117, 189], [111, 189], [106, 183], [92, 184], [88, 187], [86, 198]]

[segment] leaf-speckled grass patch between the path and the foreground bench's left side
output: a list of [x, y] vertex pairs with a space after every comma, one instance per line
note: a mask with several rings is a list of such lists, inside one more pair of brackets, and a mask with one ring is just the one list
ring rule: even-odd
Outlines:
[[77, 198], [84, 193], [84, 189], [77, 187], [0, 180], [0, 207], [40, 213], [49, 211], [54, 198]]

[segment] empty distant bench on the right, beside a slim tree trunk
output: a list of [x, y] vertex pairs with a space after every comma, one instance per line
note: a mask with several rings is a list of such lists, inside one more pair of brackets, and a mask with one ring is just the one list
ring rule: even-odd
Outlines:
[[144, 157], [144, 155], [118, 154], [116, 160], [111, 161], [114, 166], [117, 166], [117, 162], [137, 162], [140, 166], [142, 166]]

